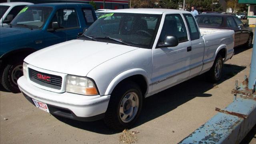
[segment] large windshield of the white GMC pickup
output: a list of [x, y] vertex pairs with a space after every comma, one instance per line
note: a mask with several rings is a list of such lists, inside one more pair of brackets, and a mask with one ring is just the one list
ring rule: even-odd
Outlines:
[[131, 46], [150, 48], [161, 16], [158, 14], [108, 13], [99, 17], [84, 34], [98, 41], [116, 43], [109, 39], [114, 38]]

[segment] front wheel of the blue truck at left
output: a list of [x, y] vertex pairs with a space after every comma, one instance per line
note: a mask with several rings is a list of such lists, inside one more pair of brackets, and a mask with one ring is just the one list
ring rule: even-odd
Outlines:
[[22, 62], [16, 64], [7, 64], [2, 73], [2, 86], [13, 93], [20, 92], [17, 80], [23, 76]]

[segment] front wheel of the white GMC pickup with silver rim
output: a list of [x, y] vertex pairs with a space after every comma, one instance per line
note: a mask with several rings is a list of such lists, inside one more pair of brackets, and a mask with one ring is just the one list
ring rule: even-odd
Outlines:
[[104, 122], [115, 130], [131, 127], [142, 108], [142, 92], [138, 84], [128, 81], [119, 84], [112, 92]]

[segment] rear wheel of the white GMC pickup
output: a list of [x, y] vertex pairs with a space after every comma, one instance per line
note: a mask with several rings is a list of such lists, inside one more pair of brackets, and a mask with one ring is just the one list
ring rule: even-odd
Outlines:
[[223, 59], [220, 54], [218, 54], [214, 60], [212, 68], [206, 72], [206, 79], [209, 82], [218, 82], [222, 76]]

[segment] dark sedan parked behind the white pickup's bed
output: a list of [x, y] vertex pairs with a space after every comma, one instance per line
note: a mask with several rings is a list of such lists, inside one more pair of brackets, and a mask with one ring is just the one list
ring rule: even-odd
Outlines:
[[195, 16], [195, 18], [200, 28], [234, 30], [234, 47], [245, 45], [247, 48], [251, 48], [253, 38], [252, 29], [236, 16], [228, 14], [201, 14]]

